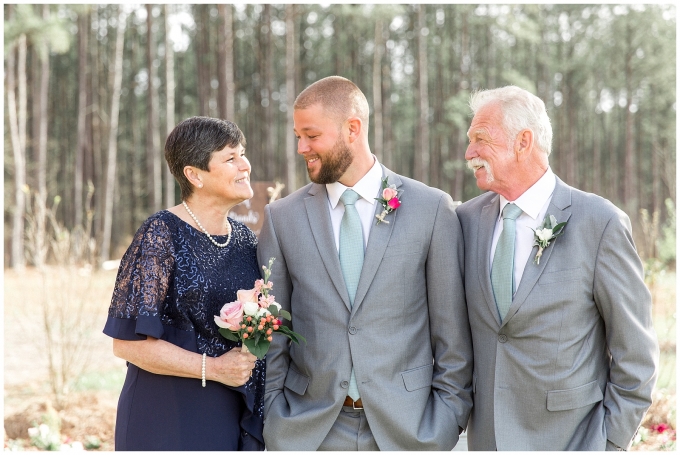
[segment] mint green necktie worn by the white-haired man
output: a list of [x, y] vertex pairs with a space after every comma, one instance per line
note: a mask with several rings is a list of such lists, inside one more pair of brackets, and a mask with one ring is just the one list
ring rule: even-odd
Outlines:
[[515, 220], [521, 214], [522, 209], [515, 204], [503, 207], [503, 232], [491, 264], [491, 286], [501, 321], [508, 314], [515, 290]]

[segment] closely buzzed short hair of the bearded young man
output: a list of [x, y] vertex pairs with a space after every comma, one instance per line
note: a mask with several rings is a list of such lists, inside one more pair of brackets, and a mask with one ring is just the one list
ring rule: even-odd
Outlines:
[[314, 82], [295, 99], [293, 109], [307, 109], [321, 104], [338, 122], [358, 117], [368, 131], [368, 101], [359, 87], [349, 79], [329, 76]]

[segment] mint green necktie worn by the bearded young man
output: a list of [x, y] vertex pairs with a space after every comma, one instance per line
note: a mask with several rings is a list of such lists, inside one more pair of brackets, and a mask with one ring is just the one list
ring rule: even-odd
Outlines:
[[[361, 229], [361, 219], [354, 204], [359, 200], [359, 195], [349, 188], [342, 193], [340, 200], [345, 205], [345, 214], [340, 222], [340, 268], [345, 278], [350, 305], [354, 305], [354, 297], [357, 293], [361, 267], [364, 265], [364, 234]], [[359, 399], [359, 388], [354, 375], [354, 367], [349, 379], [349, 395], [354, 401]]]

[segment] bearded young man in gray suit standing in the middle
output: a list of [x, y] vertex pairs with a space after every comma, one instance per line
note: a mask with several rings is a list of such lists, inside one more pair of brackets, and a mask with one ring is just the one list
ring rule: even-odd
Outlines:
[[450, 450], [472, 405], [453, 201], [378, 163], [349, 80], [307, 87], [293, 116], [313, 183], [265, 208], [258, 259], [276, 258], [273, 294], [307, 342], [267, 354], [266, 447]]

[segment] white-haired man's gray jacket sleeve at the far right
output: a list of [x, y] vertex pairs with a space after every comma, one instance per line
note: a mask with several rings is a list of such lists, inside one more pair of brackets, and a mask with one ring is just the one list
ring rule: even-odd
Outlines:
[[643, 281], [630, 220], [623, 212], [614, 215], [604, 230], [593, 287], [611, 354], [604, 397], [607, 439], [626, 448], [652, 402], [659, 346], [651, 295]]

